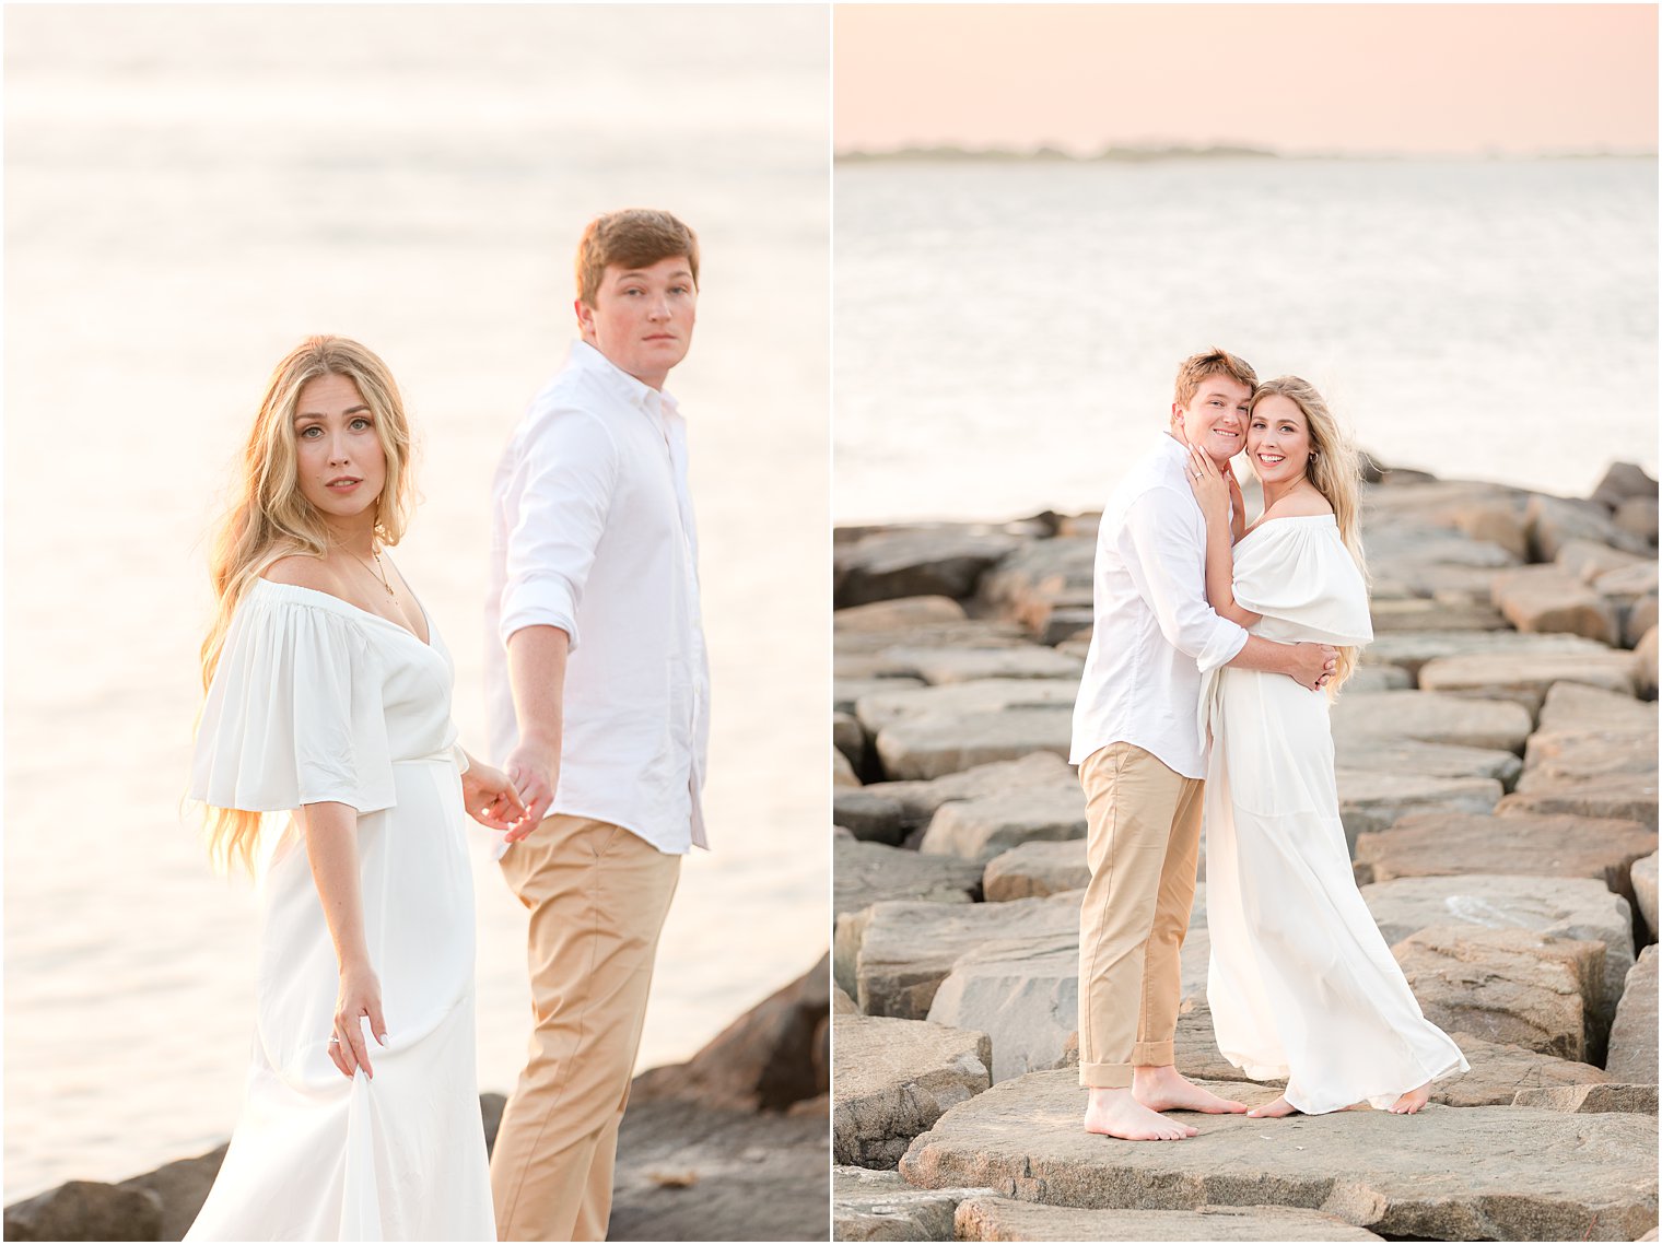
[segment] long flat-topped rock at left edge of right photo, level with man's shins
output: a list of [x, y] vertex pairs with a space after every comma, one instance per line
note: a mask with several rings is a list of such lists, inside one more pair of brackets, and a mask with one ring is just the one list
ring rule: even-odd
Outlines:
[[868, 1016], [921, 1021], [952, 966], [997, 939], [1079, 933], [1077, 893], [1004, 904], [881, 903], [836, 931], [838, 984]]

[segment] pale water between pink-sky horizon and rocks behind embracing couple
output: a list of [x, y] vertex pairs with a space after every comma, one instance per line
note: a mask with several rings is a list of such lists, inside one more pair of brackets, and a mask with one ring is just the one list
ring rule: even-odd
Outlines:
[[839, 522], [1097, 509], [1208, 346], [1381, 462], [1657, 467], [1655, 160], [839, 161]]

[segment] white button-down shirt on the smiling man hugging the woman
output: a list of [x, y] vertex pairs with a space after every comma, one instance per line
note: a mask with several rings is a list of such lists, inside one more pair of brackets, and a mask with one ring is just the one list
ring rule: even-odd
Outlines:
[[1188, 449], [1162, 436], [1102, 512], [1074, 765], [1110, 743], [1132, 743], [1185, 778], [1207, 775], [1200, 677], [1233, 658], [1246, 632], [1207, 603], [1207, 520], [1187, 462]]

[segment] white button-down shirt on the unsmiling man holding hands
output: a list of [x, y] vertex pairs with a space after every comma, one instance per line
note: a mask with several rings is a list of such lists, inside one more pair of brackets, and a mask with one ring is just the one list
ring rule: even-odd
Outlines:
[[485, 623], [494, 755], [519, 743], [509, 637], [558, 627], [572, 645], [550, 811], [610, 821], [663, 853], [708, 846], [710, 665], [686, 421], [585, 342], [497, 467]]

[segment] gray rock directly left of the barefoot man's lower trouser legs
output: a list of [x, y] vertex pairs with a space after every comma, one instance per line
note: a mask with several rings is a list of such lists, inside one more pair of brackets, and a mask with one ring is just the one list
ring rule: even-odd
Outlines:
[[961, 956], [929, 1006], [934, 1024], [992, 1039], [992, 1079], [1062, 1065], [1079, 1029], [1079, 928], [997, 939]]

